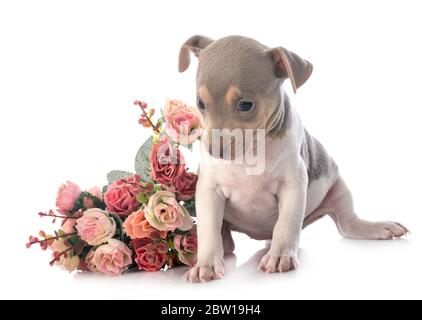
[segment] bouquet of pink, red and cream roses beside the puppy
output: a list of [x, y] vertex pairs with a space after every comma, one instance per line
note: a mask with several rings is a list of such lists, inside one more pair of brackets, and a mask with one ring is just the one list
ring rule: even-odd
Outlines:
[[72, 272], [108, 276], [130, 271], [158, 271], [179, 264], [194, 266], [197, 256], [195, 187], [181, 146], [191, 148], [201, 136], [196, 108], [167, 100], [162, 116], [145, 102], [139, 123], [153, 134], [135, 159], [135, 173], [111, 171], [108, 185], [83, 191], [72, 182], [58, 190], [56, 210], [40, 212], [60, 228], [30, 236], [27, 247], [52, 251], [50, 265]]

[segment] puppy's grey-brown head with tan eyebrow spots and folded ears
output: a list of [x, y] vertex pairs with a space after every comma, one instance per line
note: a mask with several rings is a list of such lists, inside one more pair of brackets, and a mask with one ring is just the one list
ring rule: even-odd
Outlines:
[[[197, 106], [205, 119], [203, 138], [208, 142], [216, 130], [270, 132], [284, 112], [280, 91], [284, 80], [289, 78], [296, 92], [312, 73], [312, 64], [293, 52], [240, 36], [217, 41], [200, 35], [189, 38], [180, 49], [180, 72], [189, 67], [192, 53], [199, 58]], [[214, 142], [209, 143], [210, 151]], [[225, 143], [219, 141], [217, 156], [233, 143], [233, 135]]]

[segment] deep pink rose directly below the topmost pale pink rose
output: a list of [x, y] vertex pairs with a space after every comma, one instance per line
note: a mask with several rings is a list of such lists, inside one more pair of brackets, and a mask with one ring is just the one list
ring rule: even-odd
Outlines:
[[161, 184], [171, 184], [185, 173], [185, 159], [170, 144], [168, 137], [162, 137], [153, 145], [150, 163], [151, 178]]

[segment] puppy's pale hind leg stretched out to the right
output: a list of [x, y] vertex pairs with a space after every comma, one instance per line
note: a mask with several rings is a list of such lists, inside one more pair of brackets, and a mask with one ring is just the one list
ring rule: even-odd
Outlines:
[[331, 187], [315, 213], [328, 214], [336, 223], [340, 234], [346, 238], [389, 240], [409, 232], [397, 222], [371, 222], [360, 219], [354, 212], [352, 194], [341, 177]]

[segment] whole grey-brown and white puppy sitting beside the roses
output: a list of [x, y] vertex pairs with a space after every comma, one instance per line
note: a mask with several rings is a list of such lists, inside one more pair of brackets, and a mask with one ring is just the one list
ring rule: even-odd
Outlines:
[[[266, 272], [296, 269], [301, 229], [324, 215], [348, 238], [394, 239], [408, 232], [400, 223], [360, 219], [337, 165], [303, 127], [281, 85], [290, 79], [296, 92], [311, 75], [311, 63], [245, 37], [197, 35], [180, 50], [180, 72], [191, 53], [199, 58], [197, 101], [205, 130], [196, 193], [198, 262], [186, 274], [189, 281], [223, 277], [223, 256], [234, 250], [232, 230], [271, 240], [259, 266]], [[221, 135], [217, 152], [210, 147], [213, 131], [246, 129], [264, 132], [261, 142], [257, 134], [251, 142], [253, 150], [259, 144], [265, 150], [256, 156], [265, 164], [259, 174], [251, 174], [251, 164], [233, 161], [233, 136], [220, 143]]]

